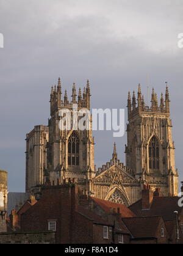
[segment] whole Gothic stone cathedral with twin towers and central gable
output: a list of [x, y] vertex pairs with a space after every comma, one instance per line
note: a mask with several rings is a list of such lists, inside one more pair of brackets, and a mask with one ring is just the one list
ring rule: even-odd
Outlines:
[[174, 164], [168, 87], [160, 98], [152, 89], [151, 106], [138, 93], [127, 97], [126, 164], [113, 144], [112, 158], [98, 170], [94, 163], [92, 117], [89, 130], [60, 130], [60, 109], [73, 111], [73, 104], [90, 111], [90, 83], [83, 93], [73, 84], [72, 100], [62, 97], [62, 84], [51, 87], [48, 126], [37, 125], [26, 135], [26, 192], [40, 196], [45, 183], [77, 183], [82, 192], [127, 207], [141, 199], [143, 185], [159, 188], [162, 196], [178, 195], [178, 170]]

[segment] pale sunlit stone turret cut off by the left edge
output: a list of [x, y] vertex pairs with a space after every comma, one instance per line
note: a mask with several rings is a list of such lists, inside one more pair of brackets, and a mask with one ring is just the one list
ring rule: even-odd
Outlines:
[[7, 172], [0, 170], [0, 232], [6, 232], [7, 216]]

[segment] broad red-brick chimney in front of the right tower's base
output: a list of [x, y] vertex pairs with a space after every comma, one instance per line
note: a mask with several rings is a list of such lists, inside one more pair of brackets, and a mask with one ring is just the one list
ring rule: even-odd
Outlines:
[[144, 185], [142, 189], [142, 210], [149, 210], [153, 200], [153, 191], [151, 186]]

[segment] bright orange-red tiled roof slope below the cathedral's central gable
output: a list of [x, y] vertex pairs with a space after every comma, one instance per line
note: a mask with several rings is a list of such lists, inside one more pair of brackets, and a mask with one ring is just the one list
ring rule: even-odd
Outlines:
[[120, 213], [122, 218], [127, 218], [127, 217], [135, 217], [136, 215], [125, 205], [122, 203], [113, 203], [107, 200], [101, 200], [97, 199], [95, 197], [91, 197], [91, 199], [96, 202], [106, 213], [110, 213], [111, 208], [114, 208], [116, 211], [118, 208], [120, 208]]

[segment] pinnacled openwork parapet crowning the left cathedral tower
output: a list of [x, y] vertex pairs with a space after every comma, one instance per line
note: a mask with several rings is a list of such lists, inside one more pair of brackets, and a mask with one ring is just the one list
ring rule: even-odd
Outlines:
[[[62, 86], [59, 78], [58, 85], [51, 87], [51, 95], [50, 95], [50, 108], [51, 115], [54, 111], [60, 108], [73, 108], [73, 104], [77, 104], [78, 108], [87, 108], [90, 109], [90, 83], [87, 80], [87, 85], [84, 87], [83, 93], [81, 93], [81, 88], [79, 88], [78, 97], [76, 93], [76, 84], [73, 83], [72, 90], [72, 100], [68, 100], [67, 92], [65, 90], [65, 94], [62, 100]], [[77, 99], [76, 99], [77, 98]]]

